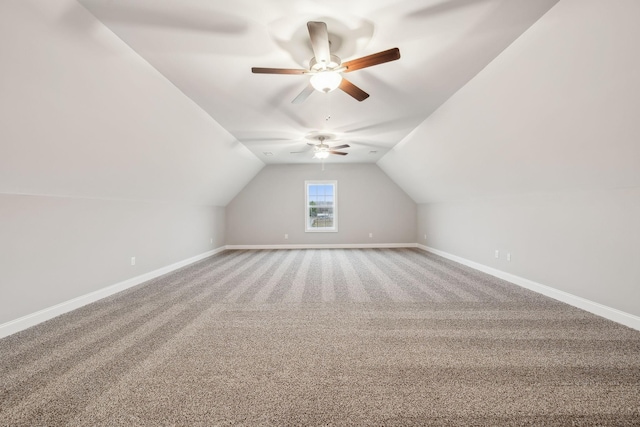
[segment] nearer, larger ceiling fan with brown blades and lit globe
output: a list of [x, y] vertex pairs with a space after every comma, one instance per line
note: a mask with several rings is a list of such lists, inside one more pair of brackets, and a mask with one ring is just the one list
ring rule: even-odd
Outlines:
[[400, 59], [400, 50], [396, 47], [342, 63], [340, 58], [331, 54], [327, 24], [324, 22], [310, 21], [307, 22], [307, 28], [309, 29], [311, 47], [313, 48], [313, 54], [315, 55], [309, 62], [308, 70], [291, 68], [251, 68], [251, 72], [256, 74], [310, 75], [311, 78], [309, 79], [309, 84], [293, 99], [292, 102], [294, 104], [300, 104], [303, 102], [314, 90], [327, 93], [338, 88], [358, 101], [364, 101], [369, 97], [369, 94], [351, 83], [349, 80], [345, 79], [342, 76], [342, 73], [350, 73], [351, 71], [356, 71], [361, 68], [367, 68], [373, 65]]

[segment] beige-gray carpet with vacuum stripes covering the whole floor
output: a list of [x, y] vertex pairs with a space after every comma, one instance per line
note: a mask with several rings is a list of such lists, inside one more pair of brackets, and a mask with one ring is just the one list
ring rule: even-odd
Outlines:
[[640, 425], [640, 332], [417, 249], [226, 251], [0, 340], [0, 425]]

